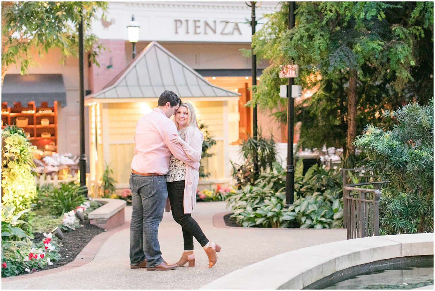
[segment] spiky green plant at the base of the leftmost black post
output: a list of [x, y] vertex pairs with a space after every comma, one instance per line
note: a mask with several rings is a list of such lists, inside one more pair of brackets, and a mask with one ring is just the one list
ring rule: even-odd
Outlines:
[[83, 196], [86, 190], [75, 182], [60, 183], [60, 187], [54, 187], [53, 192], [41, 197], [43, 204], [50, 209], [50, 213], [61, 216], [65, 212], [76, 210], [87, 197]]

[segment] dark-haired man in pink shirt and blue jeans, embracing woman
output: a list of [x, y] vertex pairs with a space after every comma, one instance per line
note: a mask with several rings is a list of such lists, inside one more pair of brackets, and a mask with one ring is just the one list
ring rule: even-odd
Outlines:
[[165, 271], [177, 268], [161, 257], [157, 229], [163, 218], [167, 198], [166, 179], [171, 153], [192, 167], [179, 144], [172, 144], [177, 127], [169, 119], [180, 107], [181, 100], [172, 91], [164, 91], [157, 108], [142, 116], [134, 134], [134, 157], [131, 162], [130, 189], [133, 212], [130, 224], [130, 268]]

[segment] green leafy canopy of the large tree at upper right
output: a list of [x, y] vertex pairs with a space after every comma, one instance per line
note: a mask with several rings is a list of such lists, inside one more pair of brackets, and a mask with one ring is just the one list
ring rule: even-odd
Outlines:
[[[254, 100], [285, 123], [287, 100], [278, 96], [279, 65], [299, 65], [295, 84], [315, 94], [295, 106], [302, 147], [346, 147], [348, 80], [357, 72], [356, 134], [367, 123], [388, 127], [383, 116], [433, 96], [433, 2], [298, 2], [288, 30], [288, 2], [271, 14], [253, 38], [263, 70]], [[350, 141], [349, 141], [350, 142]]]

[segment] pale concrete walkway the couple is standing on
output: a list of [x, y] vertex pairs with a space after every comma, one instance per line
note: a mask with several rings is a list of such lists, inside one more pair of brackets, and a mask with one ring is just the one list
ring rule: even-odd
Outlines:
[[[131, 206], [125, 210], [129, 224]], [[346, 239], [343, 229], [217, 227], [223, 224], [218, 223], [218, 217], [213, 224], [213, 217], [223, 212], [228, 212], [224, 202], [200, 202], [192, 215], [207, 238], [222, 247], [213, 268], [208, 268], [207, 256], [195, 241], [195, 267], [173, 271], [130, 269], [129, 229], [121, 227], [104, 241], [89, 263], [51, 274], [42, 275], [44, 271], [41, 271], [41, 276], [36, 277], [29, 274], [19, 280], [2, 280], [2, 289], [198, 289], [232, 271], [277, 254]], [[181, 227], [174, 222], [171, 213], [164, 214], [159, 241], [163, 258], [167, 262], [178, 261], [183, 252], [183, 237]]]

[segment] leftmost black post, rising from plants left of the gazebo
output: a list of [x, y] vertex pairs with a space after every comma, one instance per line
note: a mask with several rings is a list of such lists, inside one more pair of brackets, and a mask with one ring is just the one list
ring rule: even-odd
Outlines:
[[84, 187], [86, 191], [83, 193], [87, 197], [86, 187], [86, 154], [84, 148], [84, 67], [83, 67], [83, 6], [82, 17], [79, 23], [79, 84], [80, 84], [80, 186]]

